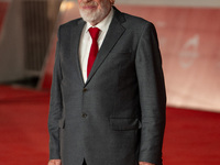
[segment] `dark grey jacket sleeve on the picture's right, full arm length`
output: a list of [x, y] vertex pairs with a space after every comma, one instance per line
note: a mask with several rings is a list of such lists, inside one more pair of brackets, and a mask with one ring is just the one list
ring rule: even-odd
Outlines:
[[166, 94], [157, 34], [152, 23], [147, 22], [143, 29], [135, 66], [142, 123], [139, 161], [162, 165]]

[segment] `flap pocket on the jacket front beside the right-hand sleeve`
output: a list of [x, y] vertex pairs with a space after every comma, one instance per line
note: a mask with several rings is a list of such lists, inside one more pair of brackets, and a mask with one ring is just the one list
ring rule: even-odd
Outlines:
[[110, 118], [110, 125], [114, 131], [141, 129], [141, 122], [138, 118]]

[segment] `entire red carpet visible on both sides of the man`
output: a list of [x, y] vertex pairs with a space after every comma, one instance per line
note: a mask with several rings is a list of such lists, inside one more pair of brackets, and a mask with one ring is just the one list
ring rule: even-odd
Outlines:
[[[0, 86], [0, 165], [46, 165], [50, 94]], [[167, 108], [164, 165], [220, 165], [220, 113]]]

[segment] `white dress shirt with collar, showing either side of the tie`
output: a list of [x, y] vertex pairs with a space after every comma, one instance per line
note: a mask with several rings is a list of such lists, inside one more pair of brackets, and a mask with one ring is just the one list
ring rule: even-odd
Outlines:
[[[96, 28], [100, 30], [99, 38], [97, 41], [99, 50], [101, 47], [101, 44], [103, 43], [103, 40], [109, 30], [109, 25], [112, 19], [113, 19], [113, 9], [111, 8], [110, 13], [100, 23], [96, 25]], [[79, 43], [79, 61], [80, 61], [81, 73], [82, 73], [85, 82], [87, 81], [87, 64], [88, 64], [89, 52], [90, 52], [90, 47], [92, 43], [91, 36], [88, 31], [90, 28], [92, 28], [92, 25], [89, 22], [87, 22], [81, 32], [81, 37], [80, 37], [80, 43]]]

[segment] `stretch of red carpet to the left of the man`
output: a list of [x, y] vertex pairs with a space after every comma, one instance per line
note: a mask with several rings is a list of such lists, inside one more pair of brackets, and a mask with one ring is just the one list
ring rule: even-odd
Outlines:
[[47, 92], [0, 87], [0, 165], [46, 165]]

